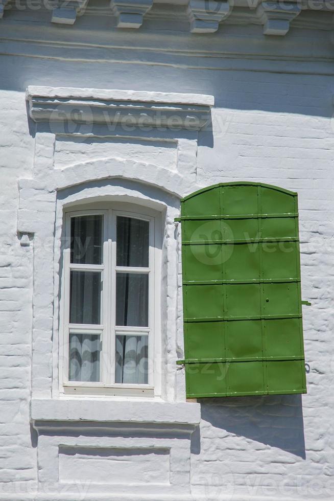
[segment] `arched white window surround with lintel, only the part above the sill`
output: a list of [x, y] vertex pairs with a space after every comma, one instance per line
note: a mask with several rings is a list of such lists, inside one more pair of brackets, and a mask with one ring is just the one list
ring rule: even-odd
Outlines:
[[[93, 99], [93, 97], [97, 99]], [[44, 98], [47, 106], [57, 106], [61, 100], [88, 100], [92, 106], [105, 106], [103, 98], [127, 101], [131, 106], [134, 102], [163, 102], [173, 112], [182, 116], [184, 107], [199, 106], [205, 108], [206, 118], [213, 105], [211, 96], [187, 94], [147, 93], [110, 91], [103, 89], [67, 89], [52, 87], [29, 87], [27, 99], [30, 112], [34, 117], [35, 98]], [[99, 101], [100, 100], [100, 101]], [[168, 104], [169, 103], [169, 104]], [[179, 103], [179, 105], [177, 104]], [[180, 103], [182, 106], [180, 107]], [[62, 106], [62, 105], [60, 105]], [[37, 107], [38, 108], [38, 107]], [[18, 236], [21, 243], [27, 245], [33, 242], [34, 253], [34, 323], [33, 323], [33, 369], [32, 397], [59, 399], [59, 263], [61, 262], [60, 239], [62, 235], [63, 210], [71, 205], [86, 203], [122, 201], [139, 203], [158, 210], [163, 214], [163, 221], [168, 229], [166, 243], [163, 246], [164, 262], [168, 263], [164, 271], [163, 305], [166, 314], [162, 321], [163, 336], [168, 347], [164, 350], [161, 381], [161, 398], [165, 401], [184, 401], [184, 379], [182, 370], [175, 366], [179, 354], [183, 350], [182, 338], [182, 297], [179, 277], [179, 234], [175, 228], [174, 217], [179, 215], [179, 199], [198, 189], [196, 183], [197, 140], [195, 129], [177, 130], [175, 128], [153, 127], [147, 130], [134, 126], [131, 132], [121, 125], [114, 128], [107, 124], [80, 123], [78, 128], [67, 130], [64, 122], [50, 122], [45, 115], [38, 115], [35, 134], [35, 157], [31, 179], [20, 179]], [[36, 117], [35, 117], [36, 118]], [[59, 115], [63, 119], [64, 114]], [[43, 120], [46, 121], [43, 121]], [[65, 115], [66, 119], [66, 115]], [[184, 121], [181, 123], [184, 124]], [[62, 167], [55, 165], [55, 144], [61, 138], [76, 142], [79, 145], [87, 139], [98, 138], [106, 144], [118, 138], [140, 138], [154, 145], [161, 140], [175, 143], [175, 165], [168, 168], [146, 162], [138, 162], [126, 156], [124, 158], [104, 157], [89, 158], [78, 164], [68, 164]], [[135, 143], [134, 143], [135, 145]], [[134, 146], [135, 147], [135, 146]], [[142, 153], [141, 153], [142, 154]], [[25, 236], [22, 241], [22, 235]], [[34, 236], [35, 235], [35, 236]], [[34, 238], [33, 238], [34, 237]], [[51, 246], [51, 239], [55, 247]], [[45, 246], [45, 242], [49, 242]], [[175, 270], [178, 270], [177, 273]], [[168, 334], [167, 334], [168, 333]], [[101, 395], [102, 396], [102, 395]], [[101, 398], [101, 396], [99, 398]], [[76, 398], [84, 398], [84, 396]], [[114, 397], [110, 397], [114, 398]], [[135, 398], [135, 397], [134, 397]]]

